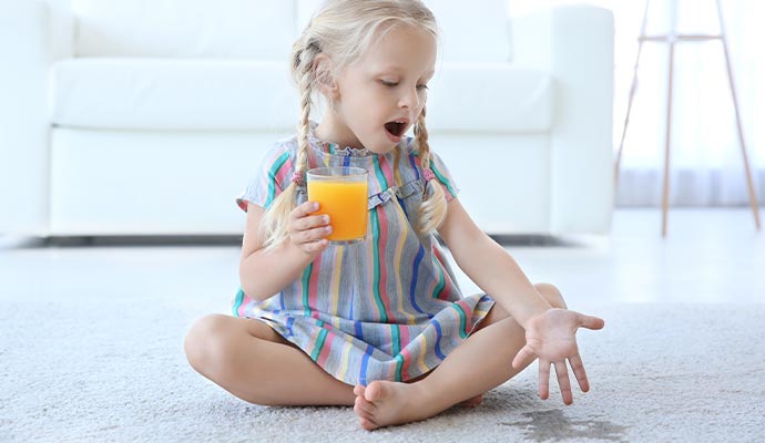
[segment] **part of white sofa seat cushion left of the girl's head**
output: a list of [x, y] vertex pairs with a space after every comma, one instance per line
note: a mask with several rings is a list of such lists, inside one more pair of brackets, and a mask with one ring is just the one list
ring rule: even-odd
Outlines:
[[277, 62], [70, 59], [52, 68], [50, 119], [90, 128], [293, 128], [298, 99], [287, 71]]

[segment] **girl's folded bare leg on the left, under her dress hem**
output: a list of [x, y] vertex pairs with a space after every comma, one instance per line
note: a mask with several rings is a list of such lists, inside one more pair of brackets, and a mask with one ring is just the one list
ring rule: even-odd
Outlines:
[[353, 387], [258, 320], [213, 315], [184, 343], [202, 375], [242, 400], [264, 405], [351, 405]]

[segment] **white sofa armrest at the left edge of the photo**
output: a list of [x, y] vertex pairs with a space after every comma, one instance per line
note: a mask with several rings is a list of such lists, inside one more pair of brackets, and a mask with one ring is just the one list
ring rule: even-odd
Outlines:
[[48, 233], [48, 71], [71, 56], [63, 2], [0, 2], [0, 234]]

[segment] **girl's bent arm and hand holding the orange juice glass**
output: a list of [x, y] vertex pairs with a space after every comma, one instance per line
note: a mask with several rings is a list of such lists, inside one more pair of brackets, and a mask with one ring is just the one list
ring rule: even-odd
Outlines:
[[327, 247], [328, 218], [310, 215], [318, 209], [314, 205], [307, 202], [295, 208], [289, 215], [289, 237], [277, 248], [265, 251], [259, 234], [265, 210], [253, 203], [247, 204], [239, 282], [248, 297], [261, 301], [279, 292], [299, 278], [308, 264]]

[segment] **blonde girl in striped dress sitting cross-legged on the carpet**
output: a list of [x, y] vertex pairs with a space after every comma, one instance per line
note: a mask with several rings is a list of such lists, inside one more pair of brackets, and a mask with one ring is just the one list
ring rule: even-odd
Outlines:
[[[436, 41], [418, 0], [330, 0], [295, 43], [298, 131], [238, 199], [247, 223], [234, 317], [203, 318], [185, 341], [192, 367], [234, 395], [353, 404], [373, 430], [477, 405], [536, 358], [542, 399], [553, 364], [563, 402], [573, 401], [567, 360], [589, 389], [575, 332], [603, 320], [531, 285], [473, 224], [430, 151]], [[315, 94], [328, 103], [320, 124], [308, 120]], [[306, 197], [306, 171], [341, 165], [369, 174], [368, 231], [355, 245], [330, 244], [333, 220]], [[491, 296], [460, 293], [435, 230]]]

